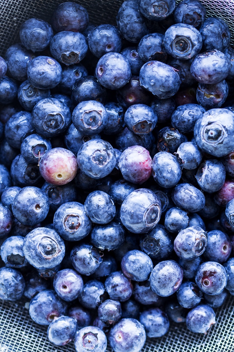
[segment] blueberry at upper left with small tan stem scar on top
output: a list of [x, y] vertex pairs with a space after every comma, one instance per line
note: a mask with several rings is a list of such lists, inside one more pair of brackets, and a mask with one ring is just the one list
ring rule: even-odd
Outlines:
[[62, 79], [62, 68], [55, 59], [49, 56], [38, 56], [29, 61], [27, 77], [33, 87], [54, 88]]

